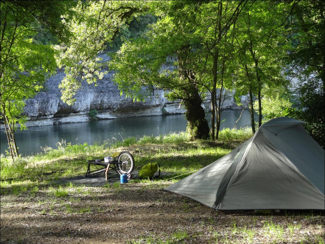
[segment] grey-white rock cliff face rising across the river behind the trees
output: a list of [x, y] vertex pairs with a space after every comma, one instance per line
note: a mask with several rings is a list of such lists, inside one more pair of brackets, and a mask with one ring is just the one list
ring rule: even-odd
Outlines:
[[[88, 121], [88, 113], [94, 109], [98, 112], [97, 119], [185, 113], [181, 102], [168, 102], [164, 98], [163, 90], [155, 90], [154, 95], [148, 96], [145, 102], [133, 102], [125, 95], [121, 96], [112, 81], [113, 73], [98, 80], [97, 86], [84, 82], [82, 89], [76, 93], [76, 102], [69, 106], [60, 100], [58, 86], [64, 76], [61, 71], [50, 77], [44, 84], [46, 92], [39, 92], [26, 101], [24, 110], [29, 117], [27, 127]], [[209, 108], [209, 100], [202, 106]], [[228, 97], [223, 108], [238, 109], [236, 106], [234, 99]]]

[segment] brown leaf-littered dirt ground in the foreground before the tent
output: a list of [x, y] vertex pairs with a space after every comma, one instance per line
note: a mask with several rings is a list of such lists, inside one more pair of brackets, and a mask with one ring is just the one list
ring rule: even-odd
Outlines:
[[171, 182], [57, 185], [1, 196], [1, 244], [324, 243], [324, 212], [213, 211]]

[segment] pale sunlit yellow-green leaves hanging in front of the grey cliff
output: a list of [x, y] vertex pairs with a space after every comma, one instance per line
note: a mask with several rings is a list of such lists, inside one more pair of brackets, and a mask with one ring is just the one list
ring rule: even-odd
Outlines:
[[64, 102], [74, 102], [82, 80], [92, 84], [103, 78], [107, 71], [102, 71], [105, 64], [98, 55], [119, 31], [126, 30], [126, 22], [147, 8], [147, 1], [80, 1], [73, 16], [63, 16], [70, 18], [64, 24], [73, 35], [69, 45], [55, 47], [58, 66], [65, 67], [67, 74], [60, 84]]

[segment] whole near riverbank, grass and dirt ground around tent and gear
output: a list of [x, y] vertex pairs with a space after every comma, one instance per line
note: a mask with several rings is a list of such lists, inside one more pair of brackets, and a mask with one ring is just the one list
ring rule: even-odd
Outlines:
[[[186, 133], [129, 137], [114, 145], [61, 144], [16, 159], [1, 157], [1, 243], [324, 243], [324, 212], [212, 211], [163, 189], [226, 155], [251, 136], [221, 131], [220, 141]], [[156, 181], [102, 187], [53, 184], [86, 172], [85, 160], [127, 150], [136, 170], [159, 162]]]

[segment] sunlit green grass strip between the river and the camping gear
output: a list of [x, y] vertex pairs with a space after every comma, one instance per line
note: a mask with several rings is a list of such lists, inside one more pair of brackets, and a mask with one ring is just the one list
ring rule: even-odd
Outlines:
[[[238, 144], [247, 140], [250, 135], [246, 129], [223, 130], [220, 137]], [[232, 136], [230, 136], [232, 135]], [[166, 172], [186, 177], [216, 159], [226, 155], [235, 148], [233, 142], [211, 142], [204, 140], [189, 141], [186, 132], [170, 133], [159, 136], [143, 136], [142, 138], [125, 137], [123, 141], [109, 143], [107, 141], [94, 145], [75, 144], [61, 141], [58, 149], [44, 148], [43, 153], [32, 156], [17, 157], [13, 161], [9, 156], [1, 155], [1, 195], [29, 192], [35, 196], [34, 187], [41, 187], [46, 183], [63, 177], [83, 175], [86, 172], [86, 160], [103, 158], [116, 151], [135, 151], [136, 169], [140, 169], [148, 162], [159, 162]], [[179, 178], [178, 178], [179, 179]], [[177, 180], [177, 178], [176, 178]], [[73, 188], [73, 186], [70, 186]], [[61, 193], [65, 194], [65, 193]], [[87, 193], [85, 193], [87, 194]]]

